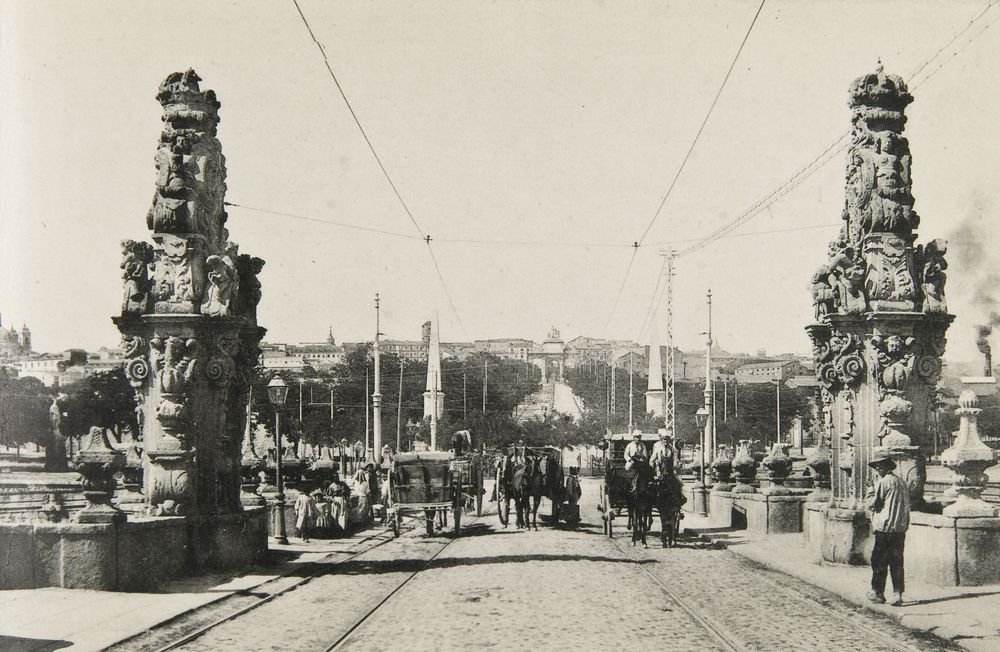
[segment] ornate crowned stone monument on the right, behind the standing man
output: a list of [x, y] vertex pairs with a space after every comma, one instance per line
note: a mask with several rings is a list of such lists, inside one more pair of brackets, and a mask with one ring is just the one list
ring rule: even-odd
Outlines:
[[923, 505], [932, 397], [954, 317], [945, 302], [945, 241], [916, 244], [903, 136], [912, 101], [902, 78], [881, 64], [851, 84], [843, 225], [812, 277], [816, 321], [806, 330], [831, 442], [829, 561], [860, 560], [875, 453], [896, 460], [914, 508]]

